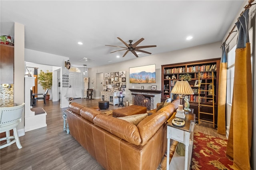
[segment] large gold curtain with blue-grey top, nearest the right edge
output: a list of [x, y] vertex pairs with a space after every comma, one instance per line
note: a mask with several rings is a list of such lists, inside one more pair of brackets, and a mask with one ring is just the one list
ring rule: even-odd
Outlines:
[[227, 156], [233, 158], [233, 166], [250, 170], [252, 142], [252, 70], [248, 36], [249, 9], [238, 18], [234, 91], [228, 136]]

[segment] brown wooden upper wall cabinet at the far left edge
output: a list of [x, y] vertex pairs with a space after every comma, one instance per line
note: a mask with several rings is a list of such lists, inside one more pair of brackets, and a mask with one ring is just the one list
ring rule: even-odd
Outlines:
[[0, 84], [14, 83], [14, 46], [0, 44]]

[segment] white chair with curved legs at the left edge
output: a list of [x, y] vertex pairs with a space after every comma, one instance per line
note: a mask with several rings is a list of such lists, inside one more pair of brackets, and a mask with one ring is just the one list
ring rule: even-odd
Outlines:
[[[0, 107], [0, 133], [6, 132], [6, 137], [1, 138], [0, 141], [6, 140], [6, 144], [2, 144], [0, 146], [0, 149], [10, 146], [14, 142], [16, 142], [16, 145], [18, 148], [22, 148], [18, 136], [18, 132], [16, 127], [21, 122], [22, 117], [22, 111], [24, 109], [25, 103], [22, 103], [22, 105], [14, 106], [14, 107]], [[10, 136], [10, 130], [13, 129], [14, 136]], [[14, 140], [10, 140], [14, 139]]]

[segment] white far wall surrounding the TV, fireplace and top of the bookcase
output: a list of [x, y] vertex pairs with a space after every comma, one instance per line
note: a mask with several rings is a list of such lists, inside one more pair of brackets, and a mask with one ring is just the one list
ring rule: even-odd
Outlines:
[[[129, 103], [132, 102], [132, 96], [130, 90], [132, 89], [132, 83], [129, 83], [129, 68], [130, 67], [137, 67], [142, 65], [150, 65], [156, 64], [156, 83], [149, 83], [149, 84], [138, 84], [133, 83], [134, 89], [140, 89], [141, 85], [144, 85], [144, 89], [151, 89], [151, 85], [157, 85], [157, 90], [161, 89], [161, 65], [165, 64], [173, 64], [173, 63], [182, 63], [182, 62], [189, 62], [189, 61], [196, 61], [202, 59], [212, 59], [212, 58], [220, 58], [222, 51], [220, 49], [222, 42], [210, 43], [205, 45], [200, 45], [197, 47], [191, 47], [186, 49], [180, 49], [176, 51], [170, 51], [167, 53], [160, 53], [156, 55], [150, 55], [148, 57], [134, 57], [132, 60], [124, 61], [121, 63], [109, 64], [100, 67], [94, 67], [89, 69], [89, 77], [90, 79], [94, 78], [96, 80], [96, 73], [110, 73], [115, 71], [126, 71], [126, 94], [125, 100], [128, 100]], [[97, 93], [100, 94], [98, 91], [101, 89], [96, 89], [96, 85], [89, 82], [90, 89], [94, 89]], [[96, 98], [100, 96], [95, 96]], [[155, 101], [155, 103], [159, 103]]]

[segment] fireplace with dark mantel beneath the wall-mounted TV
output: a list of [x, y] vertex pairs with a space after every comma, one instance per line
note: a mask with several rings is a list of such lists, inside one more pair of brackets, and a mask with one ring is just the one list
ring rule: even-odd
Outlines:
[[[132, 104], [138, 106], [144, 106], [147, 110], [154, 109], [155, 98], [160, 94], [162, 91], [160, 90], [144, 90], [144, 89], [129, 89], [132, 92]], [[160, 102], [160, 101], [159, 101]]]

